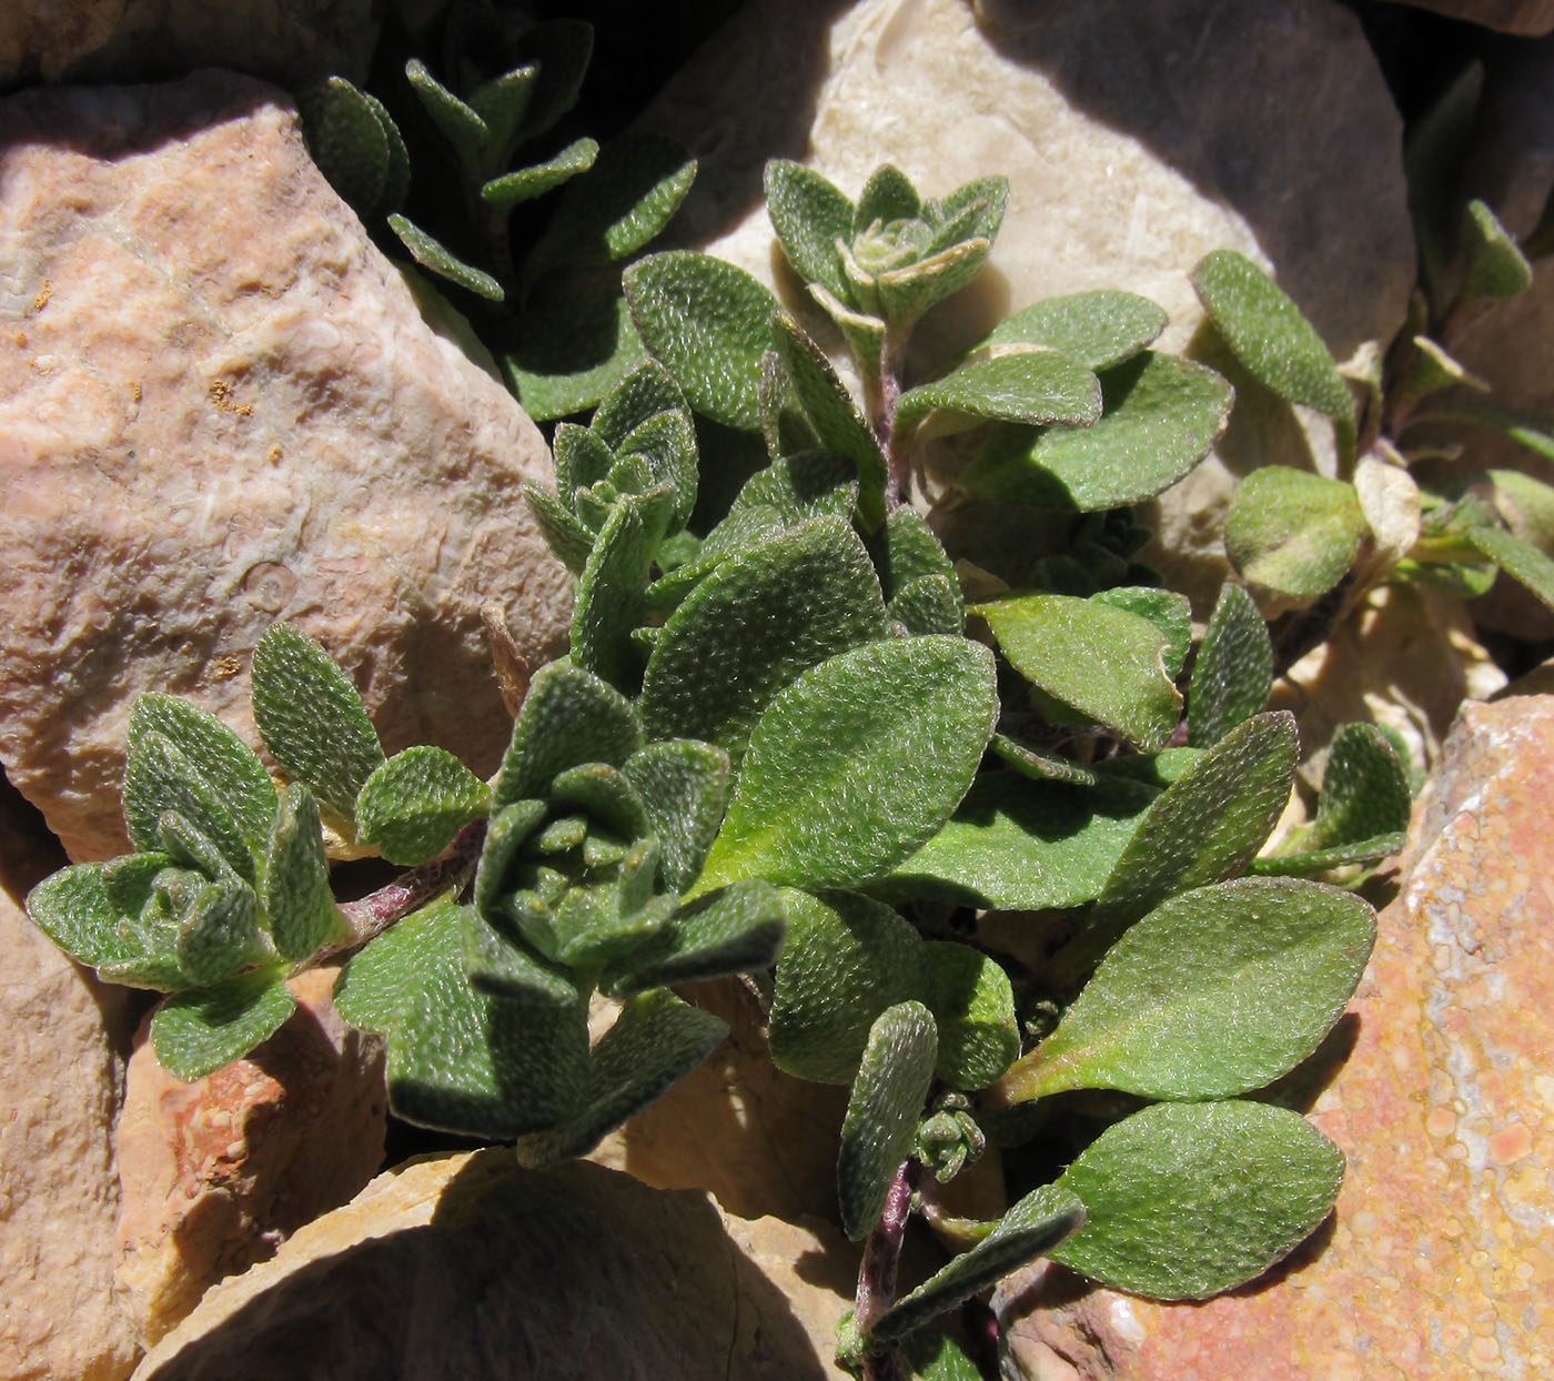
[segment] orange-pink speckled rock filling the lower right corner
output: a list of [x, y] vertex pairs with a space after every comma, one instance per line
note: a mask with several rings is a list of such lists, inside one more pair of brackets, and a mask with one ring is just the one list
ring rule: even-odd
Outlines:
[[1201, 1305], [1057, 1268], [995, 1306], [1029, 1381], [1546, 1376], [1554, 1367], [1554, 697], [1465, 704], [1414, 808], [1402, 892], [1335, 1031], [1313, 1120], [1349, 1156], [1333, 1219]]

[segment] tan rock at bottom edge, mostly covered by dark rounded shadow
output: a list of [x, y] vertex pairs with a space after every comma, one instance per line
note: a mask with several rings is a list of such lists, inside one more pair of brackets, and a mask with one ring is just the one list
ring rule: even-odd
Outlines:
[[842, 1378], [830, 1330], [855, 1269], [824, 1226], [479, 1151], [379, 1176], [218, 1285], [135, 1376]]

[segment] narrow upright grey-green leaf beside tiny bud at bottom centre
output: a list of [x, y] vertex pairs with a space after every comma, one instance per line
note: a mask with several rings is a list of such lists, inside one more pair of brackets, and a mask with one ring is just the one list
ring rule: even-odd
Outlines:
[[880, 1219], [890, 1181], [912, 1150], [937, 1047], [934, 1016], [920, 1002], [887, 1007], [869, 1028], [836, 1160], [842, 1232], [853, 1241]]

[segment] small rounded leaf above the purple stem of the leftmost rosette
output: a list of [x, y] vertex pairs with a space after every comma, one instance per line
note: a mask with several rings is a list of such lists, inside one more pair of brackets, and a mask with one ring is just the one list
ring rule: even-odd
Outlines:
[[388, 862], [415, 867], [437, 857], [471, 820], [486, 814], [488, 788], [444, 749], [416, 744], [395, 753], [362, 783], [356, 837]]

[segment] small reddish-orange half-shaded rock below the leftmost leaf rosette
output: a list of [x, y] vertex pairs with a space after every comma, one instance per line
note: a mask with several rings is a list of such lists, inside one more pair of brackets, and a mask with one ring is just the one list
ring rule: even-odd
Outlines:
[[218, 1280], [347, 1202], [382, 1165], [382, 1041], [336, 1014], [337, 974], [292, 979], [291, 1019], [193, 1084], [157, 1064], [141, 1030], [118, 1123], [117, 1275], [143, 1342]]

